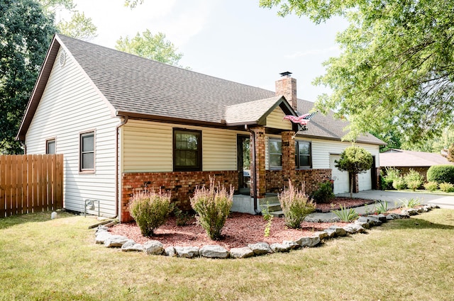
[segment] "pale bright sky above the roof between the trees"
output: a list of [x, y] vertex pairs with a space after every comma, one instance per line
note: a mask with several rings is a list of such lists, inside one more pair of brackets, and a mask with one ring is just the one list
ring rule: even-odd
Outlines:
[[324, 73], [326, 59], [339, 55], [336, 33], [347, 25], [340, 18], [321, 25], [281, 18], [258, 0], [145, 0], [134, 9], [123, 0], [74, 3], [98, 26], [90, 42], [114, 48], [120, 36], [162, 32], [183, 53], [180, 64], [195, 72], [274, 91], [279, 73], [289, 71], [298, 97], [308, 101], [329, 93], [311, 81]]

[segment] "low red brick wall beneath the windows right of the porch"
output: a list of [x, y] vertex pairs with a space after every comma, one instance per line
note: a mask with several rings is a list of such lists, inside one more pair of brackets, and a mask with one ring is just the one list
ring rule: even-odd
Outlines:
[[[288, 186], [288, 178], [284, 177], [283, 171], [269, 170], [266, 171], [267, 193], [278, 193], [282, 188]], [[319, 188], [319, 183], [331, 178], [331, 169], [302, 169], [296, 170], [292, 182], [295, 186], [301, 187], [304, 182], [304, 188], [307, 194], [312, 194]]]

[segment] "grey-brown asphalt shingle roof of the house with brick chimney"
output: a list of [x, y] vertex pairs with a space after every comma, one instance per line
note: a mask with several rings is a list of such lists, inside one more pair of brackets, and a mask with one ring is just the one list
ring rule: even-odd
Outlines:
[[[90, 42], [56, 35], [50, 47], [49, 57], [43, 65], [43, 79], [38, 79], [37, 89], [28, 105], [18, 137], [25, 137], [34, 110], [39, 102], [43, 84], [50, 72], [48, 59], [55, 59], [56, 45], [64, 47], [76, 59], [96, 87], [101, 91], [116, 112], [138, 114], [178, 120], [192, 120], [225, 126], [226, 123], [255, 121], [262, 112], [282, 96], [254, 86], [239, 84], [226, 79], [173, 67], [150, 59], [130, 55]], [[41, 75], [40, 75], [41, 77]], [[39, 82], [42, 81], [42, 82]], [[299, 113], [308, 113], [314, 106], [309, 101], [298, 100]], [[332, 115], [317, 114], [311, 119], [303, 136], [341, 140], [343, 120]], [[358, 142], [384, 144], [372, 135], [358, 138]]]

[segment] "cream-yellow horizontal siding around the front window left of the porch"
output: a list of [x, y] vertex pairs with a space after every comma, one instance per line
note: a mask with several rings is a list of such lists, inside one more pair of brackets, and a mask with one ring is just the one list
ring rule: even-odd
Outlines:
[[172, 171], [172, 129], [200, 130], [202, 171], [233, 171], [237, 169], [237, 134], [233, 130], [195, 127], [129, 120], [121, 127], [123, 136], [123, 171]]

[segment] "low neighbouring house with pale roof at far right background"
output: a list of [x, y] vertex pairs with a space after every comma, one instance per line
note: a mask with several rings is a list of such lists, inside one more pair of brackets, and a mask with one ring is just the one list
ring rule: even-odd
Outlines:
[[382, 171], [388, 167], [399, 169], [402, 174], [407, 174], [410, 169], [418, 171], [427, 180], [427, 170], [433, 165], [454, 165], [441, 154], [433, 152], [415, 152], [404, 149], [388, 149], [380, 154], [380, 168]]

